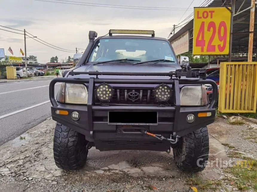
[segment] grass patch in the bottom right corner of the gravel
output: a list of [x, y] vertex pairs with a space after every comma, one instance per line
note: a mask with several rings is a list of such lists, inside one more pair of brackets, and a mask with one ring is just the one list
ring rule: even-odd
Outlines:
[[[240, 191], [246, 191], [247, 189], [254, 189], [257, 191], [257, 160], [250, 157], [243, 157], [242, 160], [246, 160], [247, 167], [238, 165], [236, 167], [227, 168], [224, 171], [232, 174], [237, 179], [229, 179], [232, 185], [235, 185]], [[252, 168], [249, 167], [252, 165]]]

